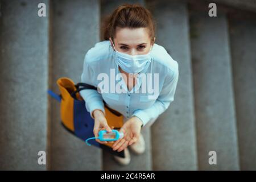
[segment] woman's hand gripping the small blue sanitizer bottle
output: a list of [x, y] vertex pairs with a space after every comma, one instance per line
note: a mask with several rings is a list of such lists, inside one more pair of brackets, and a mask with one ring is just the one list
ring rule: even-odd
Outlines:
[[[105, 115], [101, 110], [94, 110], [93, 111], [93, 117], [94, 117], [94, 129], [93, 134], [95, 137], [98, 137], [98, 132], [100, 130], [107, 130], [108, 132], [111, 132], [112, 129], [110, 129], [108, 122], [106, 121]], [[104, 144], [108, 142], [101, 142], [101, 140], [96, 139], [98, 143]]]

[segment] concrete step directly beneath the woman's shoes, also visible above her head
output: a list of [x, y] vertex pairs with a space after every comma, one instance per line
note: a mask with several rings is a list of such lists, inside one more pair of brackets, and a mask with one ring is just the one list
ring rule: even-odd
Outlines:
[[[144, 5], [144, 1], [101, 1], [101, 20], [113, 12], [113, 10], [123, 3], [140, 3]], [[108, 152], [103, 152], [103, 169], [104, 170], [151, 170], [151, 142], [150, 129], [142, 130], [145, 142], [146, 152], [143, 155], [131, 154], [131, 163], [129, 166], [119, 166]]]

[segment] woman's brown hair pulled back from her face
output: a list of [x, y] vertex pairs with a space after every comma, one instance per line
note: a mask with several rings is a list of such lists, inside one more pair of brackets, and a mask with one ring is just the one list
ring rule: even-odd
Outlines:
[[155, 37], [155, 21], [150, 11], [139, 4], [123, 4], [105, 20], [104, 40], [114, 40], [115, 30], [121, 28], [147, 28], [151, 41]]

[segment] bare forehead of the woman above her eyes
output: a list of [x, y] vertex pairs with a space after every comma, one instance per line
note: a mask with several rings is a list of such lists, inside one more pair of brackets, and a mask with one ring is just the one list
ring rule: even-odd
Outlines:
[[147, 28], [117, 28], [115, 32], [115, 42], [129, 46], [147, 43], [150, 37]]

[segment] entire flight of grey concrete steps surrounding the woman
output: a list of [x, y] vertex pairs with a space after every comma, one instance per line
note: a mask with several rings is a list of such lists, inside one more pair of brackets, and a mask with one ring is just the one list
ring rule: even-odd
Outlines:
[[[186, 1], [0, 1], [0, 169], [256, 170], [255, 15], [231, 14], [228, 29], [222, 10], [217, 18], [188, 14]], [[37, 16], [40, 2], [46, 17]], [[156, 43], [179, 63], [179, 82], [168, 110], [142, 129], [145, 154], [131, 152], [123, 167], [61, 126], [60, 104], [47, 89], [59, 93], [59, 77], [81, 81], [102, 19], [125, 2], [151, 10]], [[39, 151], [47, 152], [47, 165], [38, 164]], [[208, 163], [209, 151], [217, 152], [217, 165]]]

